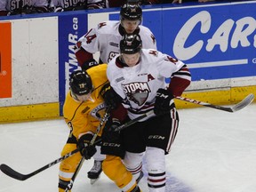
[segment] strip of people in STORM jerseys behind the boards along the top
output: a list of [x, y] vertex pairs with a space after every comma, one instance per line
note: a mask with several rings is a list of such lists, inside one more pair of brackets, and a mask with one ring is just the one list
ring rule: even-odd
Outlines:
[[126, 1], [145, 5], [205, 3], [221, 0], [0, 0], [0, 16], [121, 7]]

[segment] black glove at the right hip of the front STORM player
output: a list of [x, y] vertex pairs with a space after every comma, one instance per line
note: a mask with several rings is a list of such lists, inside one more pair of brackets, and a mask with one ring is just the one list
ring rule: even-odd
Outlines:
[[170, 110], [175, 108], [174, 102], [171, 103], [173, 98], [174, 97], [171, 92], [164, 89], [157, 90], [154, 108], [154, 113], [156, 116], [162, 116], [164, 114], [170, 113]]

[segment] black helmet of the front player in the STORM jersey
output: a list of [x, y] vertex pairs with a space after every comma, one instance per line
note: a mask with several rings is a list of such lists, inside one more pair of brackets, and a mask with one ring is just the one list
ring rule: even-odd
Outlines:
[[133, 54], [140, 52], [142, 41], [140, 35], [125, 34], [120, 41], [120, 52], [126, 54]]

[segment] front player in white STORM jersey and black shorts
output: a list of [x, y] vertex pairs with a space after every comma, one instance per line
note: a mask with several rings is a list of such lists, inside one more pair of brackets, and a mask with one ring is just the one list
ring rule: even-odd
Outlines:
[[[153, 49], [141, 49], [142, 44], [139, 35], [125, 35], [120, 55], [108, 63], [108, 80], [123, 101], [112, 113], [112, 125], [103, 130], [101, 152], [111, 154], [116, 148], [117, 126], [153, 110], [151, 116], [122, 130], [119, 137], [126, 151], [127, 169], [139, 174], [145, 152], [149, 192], [164, 192], [164, 156], [170, 152], [179, 125], [173, 98], [188, 87], [191, 76], [182, 61]], [[166, 84], [169, 77], [171, 83]], [[103, 171], [107, 164], [105, 160]]]

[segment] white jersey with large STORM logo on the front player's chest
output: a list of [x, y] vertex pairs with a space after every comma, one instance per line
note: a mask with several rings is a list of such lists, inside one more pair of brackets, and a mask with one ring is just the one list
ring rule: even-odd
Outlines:
[[177, 74], [180, 84], [191, 81], [182, 61], [156, 50], [142, 49], [140, 62], [133, 67], [123, 67], [118, 60], [117, 55], [108, 63], [107, 76], [113, 89], [124, 99], [124, 108], [131, 119], [154, 108], [157, 90], [166, 88], [165, 78]]

